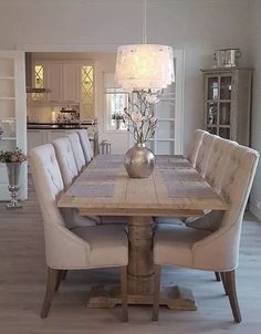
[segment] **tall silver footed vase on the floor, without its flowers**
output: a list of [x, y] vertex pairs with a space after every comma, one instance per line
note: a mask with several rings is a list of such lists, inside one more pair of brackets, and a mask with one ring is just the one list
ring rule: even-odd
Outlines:
[[9, 180], [8, 190], [10, 191], [11, 195], [11, 201], [7, 205], [7, 208], [9, 209], [22, 208], [22, 205], [18, 202], [21, 163], [7, 163], [6, 165], [7, 165], [8, 180]]

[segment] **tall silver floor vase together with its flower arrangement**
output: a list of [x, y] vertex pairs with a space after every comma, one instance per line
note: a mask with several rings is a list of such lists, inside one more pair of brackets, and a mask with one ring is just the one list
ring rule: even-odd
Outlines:
[[18, 201], [19, 191], [19, 179], [20, 169], [23, 161], [27, 160], [27, 156], [21, 149], [15, 150], [1, 150], [0, 152], [0, 163], [4, 163], [8, 171], [9, 186], [8, 190], [11, 195], [11, 201], [7, 205], [9, 209], [22, 208], [22, 205]]

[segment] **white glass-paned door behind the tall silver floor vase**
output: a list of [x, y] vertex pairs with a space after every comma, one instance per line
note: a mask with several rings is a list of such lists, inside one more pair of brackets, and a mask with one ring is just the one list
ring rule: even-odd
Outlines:
[[[27, 101], [24, 77], [24, 53], [0, 51], [0, 150], [19, 147], [27, 154]], [[27, 163], [22, 164], [19, 198], [25, 199]], [[8, 175], [4, 164], [0, 164], [0, 200], [9, 200]]]

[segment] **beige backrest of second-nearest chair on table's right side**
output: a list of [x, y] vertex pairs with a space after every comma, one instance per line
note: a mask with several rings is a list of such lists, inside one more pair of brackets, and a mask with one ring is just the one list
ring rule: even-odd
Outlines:
[[236, 142], [220, 137], [213, 142], [205, 178], [218, 194], [221, 191], [221, 185], [226, 175], [230, 155], [233, 150], [232, 148], [237, 145], [238, 143]]

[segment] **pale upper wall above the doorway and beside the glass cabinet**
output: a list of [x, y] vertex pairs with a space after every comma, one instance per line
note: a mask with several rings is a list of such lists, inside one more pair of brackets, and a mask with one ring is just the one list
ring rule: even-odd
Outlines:
[[[148, 0], [147, 42], [185, 50], [185, 147], [202, 126], [200, 69], [212, 65], [216, 49], [242, 50], [248, 64], [248, 0]], [[0, 1], [0, 49], [142, 42], [142, 0]], [[109, 45], [108, 45], [109, 44]], [[71, 49], [70, 49], [71, 50]], [[72, 51], [72, 50], [71, 50]], [[82, 50], [86, 51], [86, 50]]]

